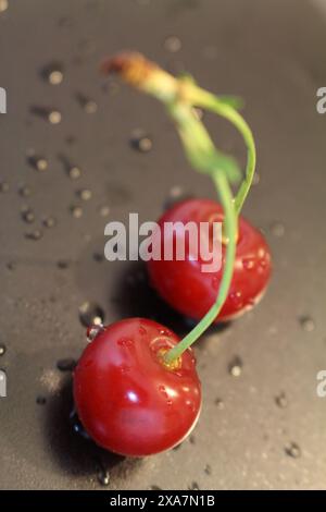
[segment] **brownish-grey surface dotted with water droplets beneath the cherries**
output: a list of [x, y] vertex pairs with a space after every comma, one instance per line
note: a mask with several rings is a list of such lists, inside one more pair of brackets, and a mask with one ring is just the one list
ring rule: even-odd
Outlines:
[[[0, 342], [8, 348], [0, 367], [9, 382], [9, 397], [0, 399], [1, 488], [101, 488], [101, 465], [113, 489], [326, 488], [326, 399], [316, 397], [316, 373], [326, 369], [326, 115], [315, 110], [316, 89], [326, 86], [325, 13], [322, 1], [299, 0], [9, 0], [0, 14], [0, 85], [9, 96], [0, 178], [10, 184], [0, 194]], [[171, 35], [181, 41], [176, 53], [164, 48]], [[198, 343], [204, 402], [191, 440], [142, 461], [114, 458], [71, 434], [70, 377], [57, 362], [78, 357], [86, 345], [78, 319], [85, 300], [100, 304], [108, 322], [143, 315], [186, 329], [138, 282], [137, 269], [133, 282], [129, 264], [98, 263], [92, 253], [103, 249], [109, 219], [128, 211], [155, 219], [174, 186], [213, 192], [188, 168], [160, 105], [126, 87], [103, 90], [98, 63], [122, 48], [246, 98], [261, 176], [246, 215], [265, 230], [274, 254], [273, 282], [259, 307]], [[64, 66], [57, 87], [39, 74], [53, 60]], [[87, 114], [76, 93], [97, 101], [98, 111]], [[62, 122], [47, 123], [33, 106], [60, 109]], [[216, 141], [243, 158], [235, 132], [206, 119]], [[129, 146], [137, 127], [153, 138], [146, 155]], [[48, 158], [46, 172], [26, 163], [30, 148]], [[80, 166], [79, 181], [66, 176], [59, 154]], [[30, 197], [20, 196], [20, 183], [30, 186]], [[92, 198], [75, 219], [70, 207], [80, 187]], [[99, 207], [106, 204], [103, 218]], [[24, 205], [34, 209], [34, 224], [23, 222]], [[49, 215], [58, 224], [41, 228], [40, 241], [26, 240]], [[276, 221], [283, 236], [271, 231]], [[59, 259], [71, 265], [60, 269]], [[302, 316], [313, 319], [311, 331]], [[243, 362], [238, 378], [228, 374], [235, 355]], [[284, 409], [275, 401], [281, 391]], [[47, 403], [38, 405], [37, 395]], [[298, 459], [286, 453], [291, 442], [301, 449]]]

